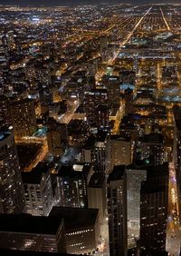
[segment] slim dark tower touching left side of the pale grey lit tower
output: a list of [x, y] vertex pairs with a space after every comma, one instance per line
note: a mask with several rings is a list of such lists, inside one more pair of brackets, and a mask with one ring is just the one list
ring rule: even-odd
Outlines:
[[114, 166], [107, 184], [110, 255], [127, 256], [127, 184], [125, 166]]

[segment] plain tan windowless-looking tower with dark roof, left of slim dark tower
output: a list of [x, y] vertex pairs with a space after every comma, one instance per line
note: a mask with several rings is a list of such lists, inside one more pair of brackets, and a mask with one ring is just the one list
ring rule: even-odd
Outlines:
[[88, 207], [99, 209], [100, 222], [103, 222], [107, 209], [105, 176], [102, 173], [94, 172], [91, 175], [87, 191]]

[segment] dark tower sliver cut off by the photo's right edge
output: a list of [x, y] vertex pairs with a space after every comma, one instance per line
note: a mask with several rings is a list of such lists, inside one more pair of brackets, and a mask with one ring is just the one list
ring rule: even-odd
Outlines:
[[[173, 161], [176, 170], [176, 187], [179, 217], [181, 218], [181, 108], [174, 107], [174, 149]], [[181, 220], [181, 219], [180, 219]]]

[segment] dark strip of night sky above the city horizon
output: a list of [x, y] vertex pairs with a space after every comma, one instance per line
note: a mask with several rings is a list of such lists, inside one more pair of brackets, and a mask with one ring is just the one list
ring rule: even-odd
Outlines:
[[180, 3], [179, 0], [0, 0], [0, 5], [87, 5], [103, 3], [130, 3], [130, 4], [148, 4], [148, 3]]

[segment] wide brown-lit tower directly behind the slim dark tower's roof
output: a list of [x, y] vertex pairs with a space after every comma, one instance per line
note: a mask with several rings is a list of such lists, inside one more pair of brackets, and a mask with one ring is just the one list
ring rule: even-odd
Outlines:
[[129, 165], [132, 159], [130, 139], [111, 135], [108, 139], [107, 158], [108, 172], [113, 169], [114, 165]]

